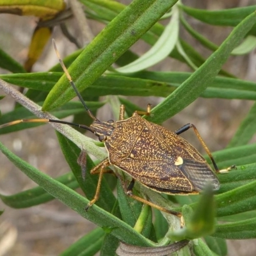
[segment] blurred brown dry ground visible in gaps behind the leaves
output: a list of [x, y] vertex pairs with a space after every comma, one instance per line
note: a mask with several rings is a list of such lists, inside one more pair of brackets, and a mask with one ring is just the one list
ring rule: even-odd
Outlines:
[[[131, 1], [120, 1], [129, 3]], [[196, 8], [208, 10], [221, 8], [234, 8], [253, 4], [253, 1], [183, 1]], [[15, 60], [24, 63], [28, 53], [28, 45], [35, 28], [36, 19], [33, 17], [18, 17], [14, 15], [0, 16], [0, 47], [8, 52]], [[102, 25], [89, 21], [90, 28], [94, 35], [102, 29]], [[231, 31], [230, 28], [214, 28], [211, 31], [196, 20], [191, 20], [191, 24], [200, 33], [210, 38], [212, 42], [220, 44]], [[79, 38], [79, 30], [76, 22], [70, 20], [68, 28]], [[182, 31], [182, 36], [187, 38], [195, 48], [209, 56], [209, 52]], [[63, 38], [60, 29], [54, 28], [53, 37], [56, 39], [61, 56], [66, 56], [74, 51], [76, 47]], [[7, 48], [8, 47], [8, 48]], [[138, 54], [142, 54], [148, 49], [148, 45], [138, 42], [132, 47]], [[46, 71], [49, 67], [57, 63], [57, 58], [52, 49], [51, 43], [47, 45], [42, 58], [36, 63], [34, 71]], [[179, 67], [179, 69], [178, 69]], [[232, 57], [225, 65], [226, 70], [237, 77], [256, 81], [255, 77], [255, 54], [249, 56]], [[155, 70], [179, 70], [190, 71], [186, 65], [182, 65], [174, 60], [166, 60], [154, 67]], [[0, 72], [6, 72], [0, 70]], [[2, 94], [2, 93], [1, 93]], [[145, 107], [148, 102], [155, 105], [161, 99], [153, 97], [145, 98], [143, 102], [136, 97], [130, 98], [141, 107]], [[1, 100], [1, 111], [4, 113], [13, 108], [13, 100], [10, 97]], [[221, 100], [221, 99], [198, 99], [172, 118], [164, 125], [173, 131], [188, 122], [193, 122], [200, 131], [209, 148], [212, 151], [220, 150], [227, 145], [232, 138], [244, 115], [252, 106], [252, 102], [242, 100]], [[108, 109], [100, 109], [99, 117], [108, 120]], [[84, 114], [86, 115], [86, 114]], [[188, 132], [184, 136], [195, 147], [200, 149], [200, 145], [193, 135]], [[49, 125], [20, 131], [6, 136], [1, 136], [1, 141], [10, 150], [13, 150], [19, 157], [33, 164], [42, 172], [57, 177], [69, 171], [68, 165], [58, 147], [58, 141], [53, 129]], [[12, 195], [22, 190], [33, 188], [35, 184], [21, 173], [6, 157], [0, 154], [0, 193]], [[0, 209], [4, 209], [4, 214], [0, 217], [0, 256], [1, 255], [58, 255], [70, 244], [88, 230], [95, 227], [93, 223], [84, 220], [76, 212], [71, 211], [57, 200], [44, 205], [39, 205], [29, 209], [11, 209], [0, 202]], [[3, 243], [3, 244], [1, 244]], [[4, 248], [10, 249], [4, 253]], [[255, 240], [250, 241], [228, 241], [228, 255], [256, 255]]]

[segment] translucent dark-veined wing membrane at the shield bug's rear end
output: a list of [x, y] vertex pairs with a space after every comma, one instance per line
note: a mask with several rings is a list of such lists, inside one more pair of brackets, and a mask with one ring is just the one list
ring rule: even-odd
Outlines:
[[220, 188], [220, 182], [216, 179], [216, 175], [212, 173], [207, 163], [198, 162], [191, 159], [183, 159], [179, 169], [188, 177], [197, 191], [204, 189], [207, 182], [212, 184], [214, 190]]

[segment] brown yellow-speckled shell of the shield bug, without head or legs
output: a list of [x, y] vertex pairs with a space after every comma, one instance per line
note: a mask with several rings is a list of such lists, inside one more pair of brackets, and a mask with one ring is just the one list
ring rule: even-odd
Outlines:
[[[105, 141], [109, 163], [148, 188], [168, 194], [196, 194], [207, 182], [220, 187], [204, 157], [186, 140], [140, 115], [115, 123]], [[183, 163], [176, 165], [178, 157]]]

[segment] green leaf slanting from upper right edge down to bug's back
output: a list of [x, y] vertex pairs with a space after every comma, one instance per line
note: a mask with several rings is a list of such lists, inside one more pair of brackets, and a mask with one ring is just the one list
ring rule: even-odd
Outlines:
[[[241, 42], [255, 22], [256, 15], [255, 13], [252, 13], [239, 23], [232, 33], [230, 33], [228, 38], [220, 45], [218, 50], [215, 51], [205, 63], [196, 70], [196, 72], [182, 83], [175, 92], [168, 96], [161, 102], [161, 104], [157, 105], [156, 108], [152, 109], [152, 117], [148, 117], [147, 119], [151, 121], [154, 120], [154, 122], [159, 124], [193, 102], [202, 92], [204, 92], [205, 88], [207, 88], [207, 85], [213, 81], [214, 77], [217, 76], [232, 50]], [[164, 109], [170, 109], [170, 111], [166, 112]]]

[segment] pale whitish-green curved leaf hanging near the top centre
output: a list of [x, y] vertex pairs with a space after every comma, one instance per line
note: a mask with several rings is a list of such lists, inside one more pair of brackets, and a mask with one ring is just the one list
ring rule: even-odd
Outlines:
[[179, 36], [179, 10], [172, 8], [172, 17], [169, 24], [165, 27], [162, 35], [158, 38], [156, 44], [148, 52], [143, 54], [138, 60], [129, 63], [121, 68], [116, 68], [117, 72], [132, 73], [138, 72], [148, 67], [152, 67], [161, 60], [164, 60], [172, 52]]

